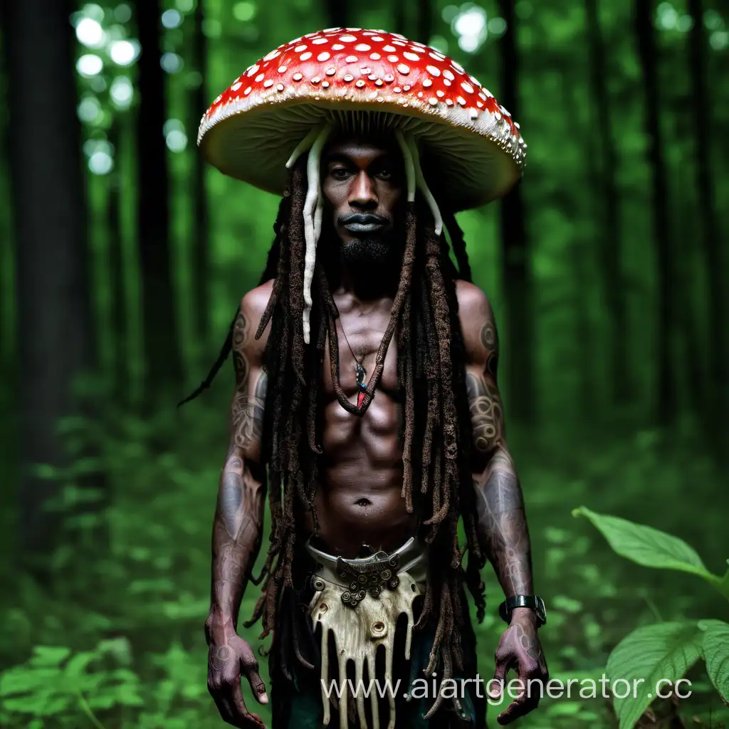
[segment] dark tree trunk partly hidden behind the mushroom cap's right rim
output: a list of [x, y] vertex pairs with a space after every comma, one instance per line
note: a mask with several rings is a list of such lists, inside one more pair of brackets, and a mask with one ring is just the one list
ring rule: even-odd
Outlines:
[[[518, 120], [519, 55], [513, 2], [499, 0], [499, 12], [507, 23], [500, 41], [499, 102]], [[536, 414], [531, 261], [519, 185], [502, 200], [500, 230], [506, 333], [506, 346], [502, 349], [507, 365], [509, 411], [512, 418], [530, 423]]]

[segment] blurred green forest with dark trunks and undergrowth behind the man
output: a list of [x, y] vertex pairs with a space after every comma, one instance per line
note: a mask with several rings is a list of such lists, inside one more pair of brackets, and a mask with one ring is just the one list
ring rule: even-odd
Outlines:
[[[246, 66], [330, 26], [451, 55], [529, 144], [515, 192], [459, 222], [499, 324], [551, 674], [599, 675], [636, 626], [725, 619], [572, 510], [672, 532], [725, 571], [726, 0], [8, 0], [0, 20], [2, 725], [222, 726], [203, 620], [232, 365], [176, 402], [257, 283], [278, 201], [206, 168], [195, 139]], [[486, 578], [488, 679], [504, 625]], [[725, 725], [689, 675], [693, 697], [644, 725]], [[521, 725], [616, 720], [573, 697]]]

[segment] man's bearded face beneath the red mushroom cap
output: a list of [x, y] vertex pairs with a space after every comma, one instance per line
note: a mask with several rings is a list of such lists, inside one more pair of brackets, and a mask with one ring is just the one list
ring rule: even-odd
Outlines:
[[386, 264], [399, 248], [405, 171], [397, 144], [332, 141], [321, 161], [321, 191], [349, 264]]

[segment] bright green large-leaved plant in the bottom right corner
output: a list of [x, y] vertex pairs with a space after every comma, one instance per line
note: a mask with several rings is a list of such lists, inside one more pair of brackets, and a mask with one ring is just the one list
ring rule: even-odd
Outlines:
[[[702, 577], [725, 597], [726, 578], [708, 572], [699, 555], [683, 539], [625, 519], [597, 514], [585, 507], [574, 516], [587, 517], [615, 552], [644, 566], [675, 569]], [[617, 644], [607, 660], [611, 679], [639, 686], [625, 697], [615, 696], [620, 729], [632, 729], [656, 696], [657, 682], [676, 684], [699, 659], [722, 700], [728, 702], [729, 625], [721, 620], [682, 621], [644, 625]], [[662, 691], [665, 695], [665, 690]], [[678, 692], [681, 696], [681, 692]]]

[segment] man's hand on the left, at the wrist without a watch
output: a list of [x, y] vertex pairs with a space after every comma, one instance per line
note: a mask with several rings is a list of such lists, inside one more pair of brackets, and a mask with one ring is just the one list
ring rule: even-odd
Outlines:
[[[216, 635], [216, 633], [218, 635]], [[266, 687], [258, 673], [258, 660], [252, 647], [234, 631], [211, 631], [208, 636], [208, 691], [215, 700], [220, 716], [239, 729], [265, 729], [258, 714], [246, 709], [241, 688], [241, 675], [248, 679], [258, 703], [268, 703]]]

